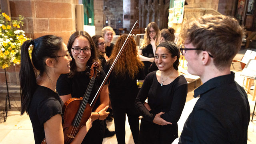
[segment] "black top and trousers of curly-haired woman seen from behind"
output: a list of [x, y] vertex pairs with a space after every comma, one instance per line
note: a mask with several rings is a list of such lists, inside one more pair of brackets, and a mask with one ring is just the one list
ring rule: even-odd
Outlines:
[[[104, 66], [104, 71], [108, 72], [110, 63]], [[132, 131], [134, 143], [138, 144], [139, 137], [139, 113], [134, 106], [135, 98], [138, 94], [136, 80], [144, 80], [145, 74], [143, 68], [135, 78], [130, 78], [128, 74], [125, 77], [118, 76], [112, 72], [108, 78], [110, 101], [114, 113], [115, 132], [118, 144], [125, 144], [125, 120], [126, 114]]]

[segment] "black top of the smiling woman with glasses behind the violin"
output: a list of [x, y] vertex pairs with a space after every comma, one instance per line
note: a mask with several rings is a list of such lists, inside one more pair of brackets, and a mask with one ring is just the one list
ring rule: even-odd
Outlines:
[[[72, 98], [84, 97], [86, 89], [90, 83], [90, 77], [88, 75], [90, 68], [87, 68], [83, 72], [76, 72], [72, 78], [68, 77], [68, 74], [61, 74], [57, 80], [56, 89], [60, 96], [71, 94]], [[99, 76], [96, 77], [92, 92], [90, 94], [88, 104], [91, 104], [94, 96], [96, 95], [100, 85], [104, 81], [106, 74], [100, 69]], [[96, 104], [92, 111], [94, 111], [100, 104], [100, 98], [96, 101]]]

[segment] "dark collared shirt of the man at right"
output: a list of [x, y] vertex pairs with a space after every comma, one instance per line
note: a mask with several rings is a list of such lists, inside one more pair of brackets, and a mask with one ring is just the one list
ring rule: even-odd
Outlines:
[[179, 144], [246, 144], [250, 106], [234, 72], [212, 78], [194, 91], [200, 96]]

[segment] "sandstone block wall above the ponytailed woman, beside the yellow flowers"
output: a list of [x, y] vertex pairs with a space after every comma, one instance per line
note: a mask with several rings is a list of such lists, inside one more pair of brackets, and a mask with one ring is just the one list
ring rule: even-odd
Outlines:
[[52, 34], [68, 38], [76, 31], [75, 4], [78, 0], [10, 0], [12, 18], [24, 16], [26, 36], [38, 38]]

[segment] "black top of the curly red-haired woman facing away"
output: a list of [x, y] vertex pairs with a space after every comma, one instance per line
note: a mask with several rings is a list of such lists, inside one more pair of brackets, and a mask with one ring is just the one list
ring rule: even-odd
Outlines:
[[[107, 73], [110, 69], [110, 63], [104, 66], [104, 71]], [[130, 78], [128, 74], [125, 77], [119, 76], [114, 71], [108, 78], [110, 100], [112, 105], [118, 105], [120, 107], [133, 107], [134, 100], [138, 94], [138, 86], [136, 80], [144, 80], [145, 73], [142, 68], [139, 68], [138, 74], [135, 78]]]

